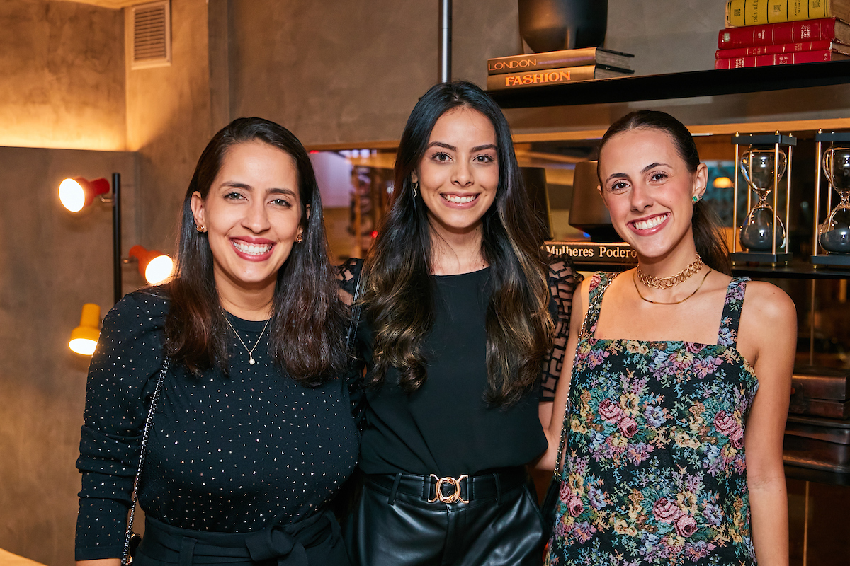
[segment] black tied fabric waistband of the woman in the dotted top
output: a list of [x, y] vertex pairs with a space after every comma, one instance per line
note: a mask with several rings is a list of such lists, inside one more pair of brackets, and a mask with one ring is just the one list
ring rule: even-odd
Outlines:
[[161, 562], [178, 563], [179, 566], [266, 561], [274, 561], [278, 566], [308, 566], [305, 549], [333, 545], [339, 539], [339, 524], [329, 511], [320, 511], [295, 523], [270, 525], [251, 533], [179, 529], [146, 517], [144, 537], [138, 552]]

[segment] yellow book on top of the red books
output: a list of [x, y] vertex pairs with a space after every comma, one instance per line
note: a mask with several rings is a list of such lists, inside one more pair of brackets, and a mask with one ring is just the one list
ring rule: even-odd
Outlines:
[[726, 27], [818, 18], [850, 19], [850, 0], [727, 0]]

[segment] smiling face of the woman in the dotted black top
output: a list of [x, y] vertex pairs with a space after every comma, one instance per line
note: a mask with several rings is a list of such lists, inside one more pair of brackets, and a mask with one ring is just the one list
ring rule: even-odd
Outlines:
[[268, 143], [237, 143], [224, 154], [203, 199], [192, 195], [198, 226], [206, 227], [213, 276], [223, 301], [238, 294], [274, 294], [277, 272], [303, 232], [295, 160]]

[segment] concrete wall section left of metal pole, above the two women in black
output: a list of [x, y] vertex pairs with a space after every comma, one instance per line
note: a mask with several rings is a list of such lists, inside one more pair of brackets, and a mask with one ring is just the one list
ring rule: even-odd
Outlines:
[[279, 121], [307, 144], [397, 139], [438, 79], [437, 8], [232, 0], [232, 115]]

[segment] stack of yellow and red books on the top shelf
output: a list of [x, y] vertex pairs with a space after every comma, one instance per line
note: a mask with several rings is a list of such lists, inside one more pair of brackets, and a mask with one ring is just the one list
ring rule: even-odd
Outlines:
[[727, 0], [715, 69], [850, 59], [850, 0]]

